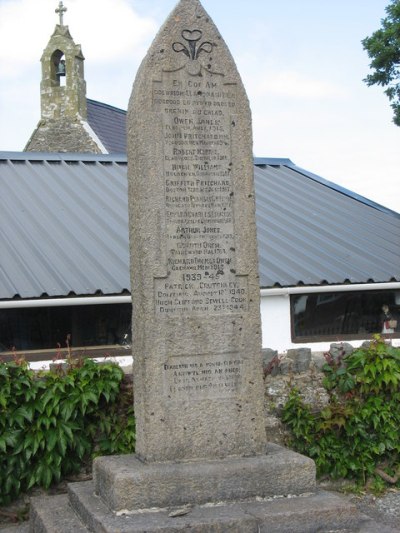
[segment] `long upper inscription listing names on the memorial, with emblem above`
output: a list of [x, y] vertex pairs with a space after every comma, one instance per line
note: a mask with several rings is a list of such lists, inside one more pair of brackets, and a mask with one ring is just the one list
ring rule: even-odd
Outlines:
[[[201, 32], [182, 36], [197, 43]], [[196, 53], [194, 42], [190, 53]], [[154, 280], [155, 313], [244, 312], [247, 276], [235, 270], [231, 162], [236, 85], [222, 75], [181, 69], [163, 72], [152, 96], [163, 120], [168, 271]]]

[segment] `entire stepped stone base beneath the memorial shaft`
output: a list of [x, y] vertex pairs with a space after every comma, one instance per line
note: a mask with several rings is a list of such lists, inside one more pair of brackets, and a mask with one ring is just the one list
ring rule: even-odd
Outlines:
[[32, 500], [32, 533], [368, 531], [343, 498], [316, 492], [312, 460], [274, 444], [265, 456], [145, 464], [102, 457], [94, 480]]

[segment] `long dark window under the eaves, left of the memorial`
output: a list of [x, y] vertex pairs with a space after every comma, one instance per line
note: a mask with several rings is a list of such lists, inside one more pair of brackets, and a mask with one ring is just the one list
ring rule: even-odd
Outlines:
[[0, 352], [130, 344], [130, 304], [0, 309]]

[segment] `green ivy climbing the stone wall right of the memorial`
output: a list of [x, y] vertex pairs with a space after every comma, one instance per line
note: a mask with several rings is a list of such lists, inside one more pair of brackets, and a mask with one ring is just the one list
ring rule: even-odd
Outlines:
[[284, 406], [291, 445], [319, 475], [399, 485], [400, 348], [377, 335], [337, 361], [327, 354], [323, 370], [326, 407], [313, 411], [296, 389]]

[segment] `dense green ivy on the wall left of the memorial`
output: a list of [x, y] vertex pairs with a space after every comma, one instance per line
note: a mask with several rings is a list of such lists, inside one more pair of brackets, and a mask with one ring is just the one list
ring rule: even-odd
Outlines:
[[39, 376], [0, 363], [0, 505], [76, 474], [95, 455], [134, 451], [133, 402], [123, 372], [91, 359]]

